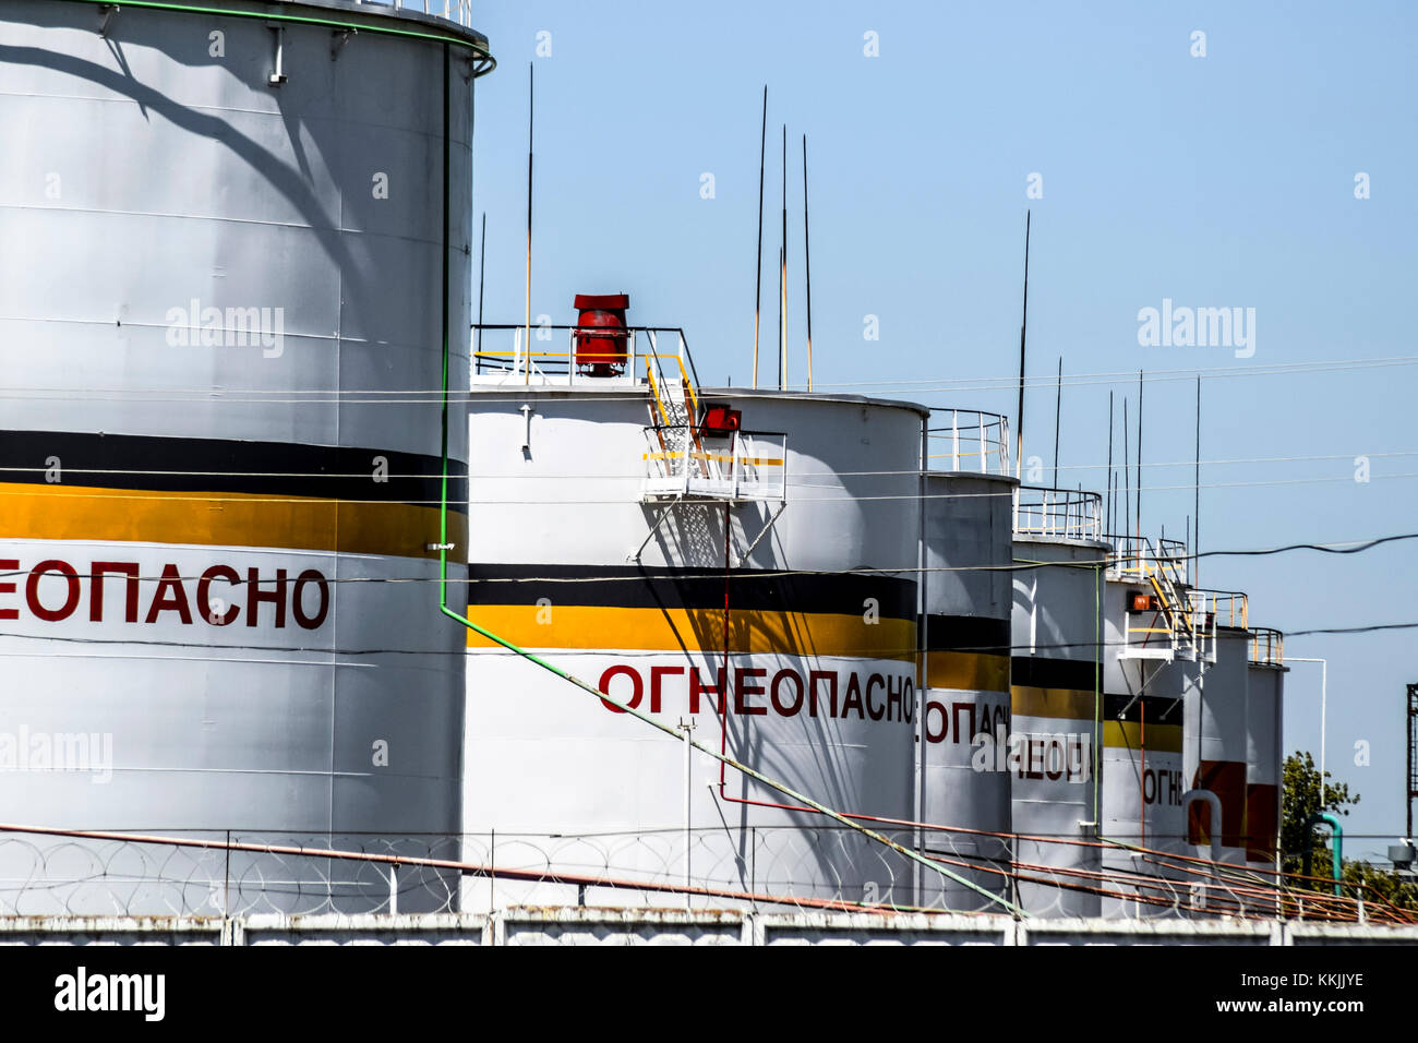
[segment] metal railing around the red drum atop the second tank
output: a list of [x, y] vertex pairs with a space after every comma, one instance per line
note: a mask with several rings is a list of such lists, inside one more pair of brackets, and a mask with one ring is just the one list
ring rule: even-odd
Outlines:
[[[689, 353], [685, 331], [678, 326], [627, 326], [623, 339], [623, 353], [577, 355], [577, 336], [610, 339], [615, 336], [605, 329], [576, 325], [533, 325], [529, 349], [526, 326], [505, 322], [474, 324], [472, 383], [475, 386], [499, 386], [526, 383], [545, 386], [594, 386], [594, 387], [638, 387], [645, 373], [654, 373], [661, 385], [666, 372], [671, 380], [681, 379], [691, 393], [699, 386], [695, 360]], [[545, 336], [543, 336], [545, 335]], [[486, 342], [492, 341], [493, 348]], [[662, 343], [668, 342], [668, 343]], [[542, 343], [546, 346], [540, 346]], [[618, 366], [613, 375], [591, 375], [583, 372], [587, 366]]]

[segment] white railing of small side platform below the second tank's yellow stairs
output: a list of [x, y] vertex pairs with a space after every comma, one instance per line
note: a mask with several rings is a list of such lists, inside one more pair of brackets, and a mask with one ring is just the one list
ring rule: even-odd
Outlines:
[[787, 497], [783, 433], [716, 436], [695, 424], [652, 424], [645, 429], [645, 498], [781, 501]]

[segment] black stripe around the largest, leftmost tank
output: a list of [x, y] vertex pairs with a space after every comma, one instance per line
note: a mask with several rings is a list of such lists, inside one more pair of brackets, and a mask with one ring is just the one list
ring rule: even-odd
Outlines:
[[[376, 481], [376, 457], [387, 481]], [[383, 448], [299, 441], [0, 430], [0, 481], [167, 492], [247, 492], [437, 507], [442, 461]], [[468, 465], [448, 461], [448, 502], [467, 504]]]

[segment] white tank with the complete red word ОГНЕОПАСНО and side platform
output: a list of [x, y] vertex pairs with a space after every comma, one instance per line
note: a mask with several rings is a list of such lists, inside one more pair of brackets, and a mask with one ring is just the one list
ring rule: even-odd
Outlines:
[[[742, 430], [691, 440], [672, 385], [475, 379], [469, 619], [830, 807], [910, 820], [925, 410], [700, 390]], [[700, 754], [686, 867], [683, 744], [476, 634], [467, 714], [469, 860], [915, 898], [913, 863]], [[567, 895], [498, 880], [468, 903]]]

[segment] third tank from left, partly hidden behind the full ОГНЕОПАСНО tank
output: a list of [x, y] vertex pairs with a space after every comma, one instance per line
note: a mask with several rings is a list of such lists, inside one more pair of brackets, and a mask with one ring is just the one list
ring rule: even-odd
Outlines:
[[[1014, 478], [925, 475], [923, 711], [917, 761], [925, 850], [977, 887], [1010, 891], [1010, 616]], [[970, 868], [970, 867], [977, 868]], [[923, 904], [997, 910], [923, 877]]]

